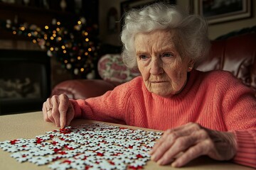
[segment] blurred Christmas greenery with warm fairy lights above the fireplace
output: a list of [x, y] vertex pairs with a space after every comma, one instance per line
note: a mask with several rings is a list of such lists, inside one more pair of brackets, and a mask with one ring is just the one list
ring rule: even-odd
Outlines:
[[97, 69], [99, 41], [97, 26], [87, 26], [85, 18], [74, 23], [64, 23], [56, 18], [43, 28], [35, 24], [7, 20], [4, 28], [14, 35], [23, 35], [47, 50], [49, 57], [56, 57], [75, 77], [92, 79]]

